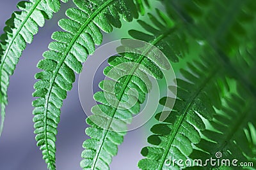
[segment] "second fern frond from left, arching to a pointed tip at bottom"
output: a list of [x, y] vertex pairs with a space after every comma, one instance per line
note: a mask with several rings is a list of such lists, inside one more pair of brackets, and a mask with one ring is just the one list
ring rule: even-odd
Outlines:
[[143, 11], [141, 0], [74, 0], [77, 8], [66, 11], [68, 18], [58, 24], [64, 31], [54, 32], [49, 51], [44, 52], [38, 68], [44, 71], [35, 75], [33, 101], [35, 110], [35, 134], [37, 145], [49, 169], [55, 169], [55, 141], [57, 125], [60, 122], [60, 108], [67, 91], [72, 89], [75, 74], [82, 70], [81, 62], [95, 51], [95, 45], [102, 43], [102, 33], [121, 27], [120, 15], [131, 22]]

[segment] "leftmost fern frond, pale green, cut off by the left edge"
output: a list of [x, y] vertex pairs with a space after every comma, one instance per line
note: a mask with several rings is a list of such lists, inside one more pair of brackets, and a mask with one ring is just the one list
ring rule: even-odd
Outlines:
[[[67, 2], [67, 0], [61, 0]], [[6, 21], [4, 34], [0, 40], [0, 103], [1, 103], [1, 125], [0, 136], [3, 131], [3, 123], [5, 117], [5, 107], [8, 103], [7, 89], [9, 85], [9, 77], [13, 74], [22, 51], [26, 48], [26, 43], [33, 41], [33, 36], [38, 32], [38, 26], [43, 27], [45, 19], [52, 18], [51, 6], [59, 4], [59, 0], [33, 0], [20, 1], [12, 17]], [[56, 9], [54, 12], [59, 10]]]

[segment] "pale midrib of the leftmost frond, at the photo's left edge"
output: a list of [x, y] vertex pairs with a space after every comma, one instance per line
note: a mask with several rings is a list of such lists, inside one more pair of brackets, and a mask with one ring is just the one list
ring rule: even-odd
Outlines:
[[[11, 50], [11, 47], [15, 41], [15, 39], [17, 38], [17, 36], [19, 35], [21, 29], [24, 27], [24, 25], [26, 24], [26, 22], [28, 21], [29, 17], [32, 15], [33, 11], [36, 9], [36, 7], [38, 6], [38, 4], [40, 3], [41, 0], [38, 0], [34, 5], [33, 5], [33, 8], [31, 8], [31, 10], [29, 11], [27, 17], [22, 21], [19, 29], [17, 29], [17, 31], [15, 32], [14, 36], [12, 37], [10, 43], [8, 43], [8, 47], [4, 53], [4, 56], [3, 56], [3, 61], [1, 62], [1, 67], [0, 67], [0, 83], [2, 82], [2, 71], [3, 71], [3, 66], [4, 66], [4, 62], [6, 60], [6, 58], [8, 57], [8, 53], [10, 52]], [[1, 103], [1, 108], [3, 107], [4, 108], [4, 103], [3, 103], [3, 94], [2, 94], [2, 88], [0, 87], [0, 103]], [[4, 110], [1, 109], [1, 127], [0, 127], [0, 136], [1, 136], [1, 133], [3, 131], [3, 122], [4, 122]]]

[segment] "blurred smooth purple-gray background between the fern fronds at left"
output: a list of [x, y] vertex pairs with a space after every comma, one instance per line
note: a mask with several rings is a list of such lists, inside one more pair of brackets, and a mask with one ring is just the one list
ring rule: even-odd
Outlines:
[[[18, 2], [17, 0], [1, 0], [1, 34], [3, 33], [4, 22], [10, 18], [13, 11], [17, 10], [16, 4]], [[38, 60], [42, 59], [42, 53], [47, 50], [47, 45], [51, 42], [52, 32], [60, 30], [57, 21], [63, 18], [68, 6], [72, 6], [72, 3], [61, 4], [62, 10], [55, 14], [52, 20], [47, 21], [44, 28], [40, 29], [33, 43], [24, 50], [17, 69], [10, 78], [9, 104], [6, 107], [4, 130], [0, 138], [1, 170], [47, 169], [44, 160], [42, 160], [42, 153], [36, 146], [35, 134], [33, 134], [33, 107], [31, 102], [35, 98], [31, 94], [36, 82], [34, 75], [40, 71], [36, 68], [36, 64]], [[113, 34], [109, 34], [104, 42], [113, 40], [113, 37]], [[84, 129], [87, 127], [85, 123], [86, 115], [79, 103], [77, 80], [72, 91], [68, 92], [68, 97], [61, 109], [61, 122], [58, 127], [56, 142], [56, 166], [57, 169], [61, 170], [81, 169], [79, 162], [83, 151], [82, 143], [84, 139], [88, 138], [84, 134]], [[111, 169], [138, 169], [137, 162], [142, 158], [140, 150], [146, 145], [147, 141], [147, 135], [144, 131], [145, 128], [140, 128], [128, 132], [124, 143], [118, 147], [118, 155], [113, 158]]]

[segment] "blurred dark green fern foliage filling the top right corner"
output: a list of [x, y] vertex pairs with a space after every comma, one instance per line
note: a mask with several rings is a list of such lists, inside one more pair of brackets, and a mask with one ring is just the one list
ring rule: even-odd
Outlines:
[[[221, 67], [225, 67], [226, 73], [243, 82], [244, 87], [250, 89], [256, 96], [253, 76], [246, 78], [244, 74], [248, 72], [241, 73], [246, 71], [246, 68], [251, 69], [250, 73], [255, 71], [253, 66], [248, 67], [248, 62], [254, 63], [248, 58], [253, 57], [245, 57], [246, 52], [244, 52], [248, 47], [250, 47], [249, 51], [253, 51], [252, 46], [256, 37], [255, 2], [253, 0], [164, 2], [166, 6], [170, 6], [166, 10], [173, 16], [173, 20], [183, 25], [188, 30], [188, 34], [191, 34], [207, 50], [214, 51], [214, 57], [218, 58], [218, 64]], [[251, 52], [248, 54], [253, 56]], [[243, 60], [246, 60], [245, 65]]]

